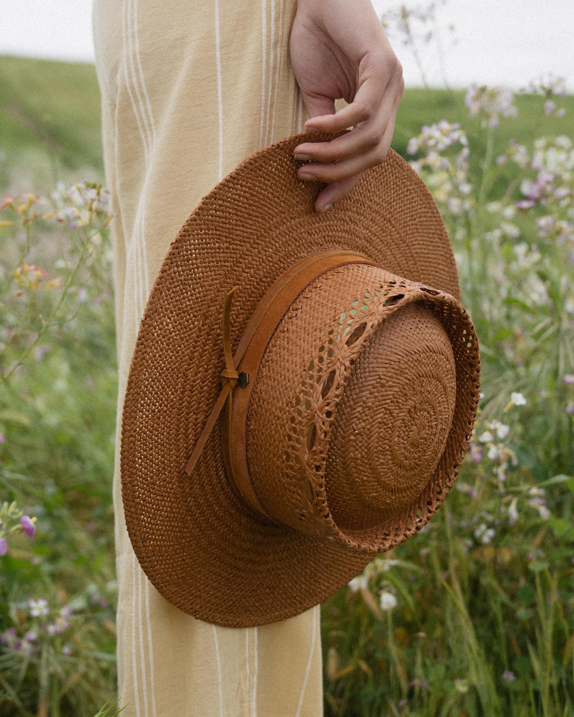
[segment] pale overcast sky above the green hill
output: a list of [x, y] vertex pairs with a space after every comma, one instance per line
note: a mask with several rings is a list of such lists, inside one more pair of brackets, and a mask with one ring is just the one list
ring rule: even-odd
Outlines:
[[[373, 1], [379, 12], [398, 5]], [[0, 0], [0, 54], [93, 61], [91, 6], [91, 0]], [[446, 29], [442, 33], [451, 85], [479, 82], [519, 89], [541, 73], [554, 72], [567, 77], [574, 89], [574, 0], [448, 0], [440, 14], [444, 28], [450, 23], [456, 28], [456, 44]], [[392, 41], [407, 85], [420, 85], [408, 48]], [[441, 85], [433, 44], [424, 49], [423, 64], [429, 82]]]

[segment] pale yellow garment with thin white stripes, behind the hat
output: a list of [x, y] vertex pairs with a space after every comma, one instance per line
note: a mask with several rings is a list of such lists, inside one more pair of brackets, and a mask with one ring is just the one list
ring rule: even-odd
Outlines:
[[[169, 244], [217, 181], [301, 130], [288, 54], [296, 0], [95, 0], [103, 146], [113, 197], [118, 416], [149, 290]], [[321, 717], [319, 607], [233, 629], [149, 583], [114, 482], [122, 717]]]

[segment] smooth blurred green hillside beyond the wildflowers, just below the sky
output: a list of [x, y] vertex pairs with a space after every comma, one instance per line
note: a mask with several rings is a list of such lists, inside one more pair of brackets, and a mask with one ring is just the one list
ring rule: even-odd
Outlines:
[[[535, 108], [540, 98], [517, 98], [519, 119], [504, 123], [497, 147], [514, 137], [527, 143], [540, 135], [543, 118]], [[560, 101], [564, 118], [552, 118], [552, 134], [567, 134], [572, 127], [574, 97]], [[466, 118], [464, 92], [405, 90], [400, 104], [392, 147], [406, 153], [409, 139], [420, 127], [441, 119]], [[0, 184], [6, 186], [14, 168], [48, 164], [53, 181], [66, 171], [90, 166], [103, 174], [100, 136], [100, 99], [93, 65], [0, 56]], [[32, 154], [32, 159], [25, 157]]]

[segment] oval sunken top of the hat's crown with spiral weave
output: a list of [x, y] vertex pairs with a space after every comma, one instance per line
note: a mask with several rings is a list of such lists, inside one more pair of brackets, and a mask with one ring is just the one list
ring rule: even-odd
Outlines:
[[325, 488], [342, 529], [375, 528], [431, 479], [451, 429], [456, 366], [431, 310], [385, 320], [354, 366], [331, 432]]

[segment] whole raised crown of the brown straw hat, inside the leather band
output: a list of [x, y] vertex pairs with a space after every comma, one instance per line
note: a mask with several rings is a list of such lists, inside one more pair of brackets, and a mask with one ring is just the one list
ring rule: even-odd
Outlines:
[[380, 526], [420, 498], [456, 403], [451, 338], [425, 292], [438, 294], [346, 265], [311, 282], [283, 316], [247, 429], [250, 479], [273, 520], [373, 551]]

